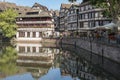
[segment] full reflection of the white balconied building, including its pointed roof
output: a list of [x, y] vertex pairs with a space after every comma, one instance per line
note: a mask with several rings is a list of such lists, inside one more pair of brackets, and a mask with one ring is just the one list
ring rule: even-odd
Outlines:
[[31, 72], [34, 78], [47, 73], [53, 65], [54, 54], [58, 51], [52, 48], [42, 48], [42, 45], [38, 43], [17, 43], [16, 49], [18, 51], [17, 65]]

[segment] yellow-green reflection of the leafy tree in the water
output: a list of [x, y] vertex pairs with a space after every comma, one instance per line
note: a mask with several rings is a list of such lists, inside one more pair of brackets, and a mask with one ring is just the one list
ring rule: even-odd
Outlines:
[[17, 51], [13, 46], [3, 46], [0, 52], [0, 78], [15, 74]]

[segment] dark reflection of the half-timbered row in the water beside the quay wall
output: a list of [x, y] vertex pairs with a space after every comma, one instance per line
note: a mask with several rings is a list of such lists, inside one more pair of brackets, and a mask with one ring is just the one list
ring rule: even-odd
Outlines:
[[60, 67], [62, 75], [70, 74], [83, 80], [106, 80], [104, 72], [69, 52], [62, 54]]

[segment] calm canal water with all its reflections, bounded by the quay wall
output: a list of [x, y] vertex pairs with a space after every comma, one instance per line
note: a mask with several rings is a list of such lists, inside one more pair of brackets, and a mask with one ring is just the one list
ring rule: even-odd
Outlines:
[[101, 56], [93, 55], [93, 60], [88, 56], [72, 46], [2, 43], [0, 80], [120, 80], [119, 64]]

